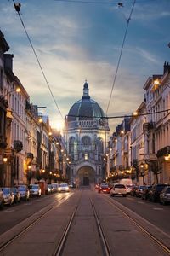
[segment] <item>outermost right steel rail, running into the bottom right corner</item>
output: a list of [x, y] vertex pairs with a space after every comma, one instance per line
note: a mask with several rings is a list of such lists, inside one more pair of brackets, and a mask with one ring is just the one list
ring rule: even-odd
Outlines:
[[127, 214], [127, 212], [124, 212], [120, 207], [117, 207], [113, 202], [111, 202], [110, 200], [107, 200], [107, 199], [105, 199], [105, 201], [110, 203], [112, 206], [116, 207], [116, 209], [118, 209], [120, 212], [122, 212], [123, 215], [125, 215], [131, 222], [133, 222], [133, 224], [135, 224], [139, 228], [139, 230], [142, 231], [142, 233], [145, 236], [149, 236], [151, 241], [154, 241], [156, 243], [156, 245], [161, 247], [161, 249], [165, 253], [167, 253], [167, 255], [170, 255], [170, 248], [167, 247], [162, 241], [157, 239], [156, 236], [153, 236], [148, 230], [144, 229], [144, 227], [141, 224], [139, 224], [134, 218], [130, 217]]

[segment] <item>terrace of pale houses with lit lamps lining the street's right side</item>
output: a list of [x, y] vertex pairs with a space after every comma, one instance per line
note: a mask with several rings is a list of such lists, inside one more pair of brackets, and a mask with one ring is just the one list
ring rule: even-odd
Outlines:
[[[107, 177], [131, 177], [133, 183], [170, 183], [170, 65], [148, 78], [144, 101], [117, 125], [107, 150]], [[109, 153], [110, 152], [110, 153]]]

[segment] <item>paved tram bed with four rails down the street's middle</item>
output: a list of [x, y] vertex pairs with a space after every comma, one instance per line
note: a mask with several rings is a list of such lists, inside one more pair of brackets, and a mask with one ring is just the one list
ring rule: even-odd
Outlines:
[[[22, 241], [22, 246], [27, 246], [27, 254], [29, 253], [29, 245], [33, 246], [34, 248], [38, 246], [41, 249], [41, 255], [52, 255], [52, 256], [65, 256], [70, 255], [70, 248], [71, 253], [74, 252], [74, 255], [77, 256], [80, 254], [80, 251], [75, 251], [75, 241], [79, 241], [82, 243], [82, 247], [84, 244], [87, 243], [88, 252], [90, 252], [93, 255], [102, 255], [102, 256], [114, 256], [119, 255], [120, 252], [122, 252], [122, 255], [125, 251], [118, 249], [116, 250], [116, 244], [119, 242], [119, 239], [122, 234], [118, 233], [119, 230], [121, 232], [127, 232], [129, 229], [129, 232], [132, 232], [135, 236], [144, 237], [144, 242], [146, 241], [147, 245], [152, 244], [154, 247], [156, 247], [154, 250], [156, 252], [159, 251], [158, 254], [150, 254], [150, 255], [160, 255], [160, 251], [162, 252], [161, 255], [170, 255], [170, 249], [167, 247], [165, 243], [160, 241], [156, 236], [153, 236], [148, 230], [144, 228], [144, 225], [139, 223], [135, 218], [133, 218], [133, 215], [130, 212], [127, 212], [127, 207], [124, 207], [117, 203], [116, 201], [112, 200], [111, 198], [106, 198], [105, 196], [101, 197], [99, 195], [94, 196], [93, 194], [90, 194], [91, 192], [86, 191], [83, 193], [83, 189], [77, 191], [74, 197], [71, 197], [70, 201], [67, 201], [62, 207], [59, 206], [68, 199], [65, 197], [62, 197], [58, 201], [58, 205], [56, 206], [56, 201], [54, 204], [50, 205], [45, 212], [41, 213], [41, 216], [39, 216], [36, 220], [32, 220], [30, 224], [28, 224], [24, 229], [20, 230], [18, 234], [15, 234], [11, 239], [8, 239], [6, 243], [3, 243], [3, 245], [0, 246], [0, 255], [14, 255], [16, 251], [14, 251], [14, 247], [18, 246], [20, 247], [20, 239]], [[104, 200], [104, 201], [103, 201]], [[106, 212], [103, 211], [103, 208], [101, 207], [101, 204], [105, 205]], [[63, 208], [64, 207], [64, 208]], [[86, 209], [86, 210], [85, 210]], [[113, 210], [111, 210], [113, 209]], [[54, 210], [54, 212], [52, 211]], [[65, 212], [66, 215], [64, 215]], [[57, 213], [58, 212], [58, 213]], [[49, 213], [49, 214], [48, 214]], [[56, 215], [56, 213], [58, 215]], [[54, 216], [53, 219], [51, 219], [51, 216]], [[59, 218], [60, 217], [60, 218]], [[59, 219], [58, 219], [59, 218]], [[110, 221], [107, 221], [107, 218], [110, 218]], [[61, 222], [61, 219], [63, 219], [63, 222]], [[127, 219], [127, 220], [126, 220]], [[59, 229], [56, 230], [54, 228], [54, 234], [53, 239], [49, 239], [44, 244], [44, 248], [48, 247], [50, 250], [47, 252], [43, 251], [43, 248], [41, 247], [38, 241], [29, 240], [30, 236], [34, 236], [34, 234], [37, 234], [37, 228], [41, 226], [41, 220], [42, 223], [48, 223], [48, 221], [53, 220], [53, 224], [59, 225]], [[122, 224], [122, 220], [124, 221], [124, 224]], [[38, 223], [40, 222], [40, 223]], [[116, 223], [117, 222], [117, 223]], [[126, 224], [131, 223], [131, 224]], [[81, 229], [80, 229], [81, 224]], [[112, 227], [111, 229], [109, 226]], [[83, 230], [83, 227], [86, 226], [88, 229], [86, 230], [86, 236], [81, 234], [85, 232]], [[35, 227], [34, 227], [35, 226]], [[135, 228], [134, 228], [135, 227]], [[108, 229], [109, 228], [109, 229]], [[42, 230], [47, 230], [45, 226], [42, 226]], [[88, 230], [88, 233], [87, 233]], [[109, 231], [109, 232], [108, 232]], [[90, 233], [91, 232], [91, 233]], [[93, 232], [93, 235], [92, 235]], [[115, 232], [115, 233], [114, 233]], [[88, 239], [87, 239], [88, 234]], [[131, 233], [129, 233], [131, 236]], [[74, 238], [73, 238], [74, 236]], [[127, 233], [126, 235], [127, 236]], [[1, 238], [1, 236], [0, 236]], [[55, 239], [54, 239], [55, 238]], [[149, 238], [149, 239], [148, 239]], [[17, 241], [19, 239], [19, 241]], [[91, 242], [90, 239], [92, 240]], [[138, 238], [139, 239], [139, 238]], [[44, 241], [42, 239], [42, 241]], [[147, 242], [148, 241], [148, 242]], [[132, 242], [132, 240], [131, 240]], [[27, 243], [27, 245], [26, 245]], [[95, 245], [95, 248], [94, 248]], [[121, 244], [120, 244], [121, 246]], [[80, 245], [81, 247], [81, 245]], [[128, 243], [125, 246], [128, 248]], [[139, 248], [141, 247], [141, 243], [139, 243]], [[86, 247], [85, 247], [86, 248]], [[142, 247], [141, 247], [142, 248]], [[32, 251], [31, 251], [32, 252]], [[92, 253], [93, 252], [93, 253]], [[141, 253], [143, 253], [141, 251]], [[89, 253], [85, 252], [85, 250], [81, 251], [82, 255], [88, 255]], [[20, 253], [17, 255], [21, 255]], [[36, 254], [35, 254], [36, 255]], [[89, 254], [90, 255], [90, 254]], [[135, 255], [135, 254], [133, 254]]]

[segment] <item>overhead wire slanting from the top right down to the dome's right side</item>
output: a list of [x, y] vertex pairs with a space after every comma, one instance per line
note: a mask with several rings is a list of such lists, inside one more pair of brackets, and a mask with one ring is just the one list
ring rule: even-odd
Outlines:
[[127, 26], [126, 26], [124, 37], [123, 37], [123, 40], [122, 40], [122, 48], [121, 48], [121, 52], [120, 52], [120, 55], [119, 55], [119, 58], [118, 58], [118, 62], [117, 62], [117, 66], [116, 66], [116, 73], [115, 73], [115, 76], [114, 76], [114, 79], [113, 79], [113, 84], [112, 84], [112, 87], [111, 87], [111, 95], [110, 95], [109, 102], [108, 102], [108, 105], [107, 105], [107, 108], [106, 108], [106, 113], [105, 113], [106, 116], [107, 116], [107, 113], [108, 113], [108, 110], [109, 110], [109, 107], [110, 107], [110, 104], [111, 104], [111, 97], [112, 97], [113, 89], [114, 89], [115, 84], [116, 84], [116, 77], [117, 77], [118, 69], [119, 69], [119, 66], [120, 66], [121, 58], [122, 58], [122, 50], [124, 48], [125, 40], [127, 38], [127, 30], [128, 30], [128, 26], [129, 26], [129, 22], [131, 20], [131, 17], [133, 15], [133, 9], [134, 9], [135, 3], [136, 3], [136, 0], [133, 1], [133, 6], [132, 6], [132, 9], [131, 9], [130, 15], [127, 19]]

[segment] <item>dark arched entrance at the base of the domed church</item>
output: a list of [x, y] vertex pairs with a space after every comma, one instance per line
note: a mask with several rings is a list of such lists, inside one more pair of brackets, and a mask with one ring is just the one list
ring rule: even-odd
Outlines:
[[77, 172], [77, 177], [82, 186], [88, 186], [90, 183], [94, 183], [94, 169], [90, 166], [82, 166]]

